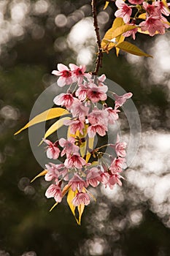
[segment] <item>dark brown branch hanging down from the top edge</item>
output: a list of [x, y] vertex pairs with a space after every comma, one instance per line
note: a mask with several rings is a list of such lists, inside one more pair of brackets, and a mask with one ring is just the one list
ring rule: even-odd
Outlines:
[[97, 0], [92, 0], [91, 1], [92, 14], [93, 14], [93, 26], [94, 26], [94, 29], [95, 29], [95, 32], [96, 32], [97, 45], [98, 45], [96, 67], [95, 67], [95, 70], [93, 72], [91, 72], [93, 75], [98, 74], [98, 69], [101, 67], [102, 58], [103, 58], [103, 53], [102, 53], [102, 48], [101, 48], [101, 37], [100, 37], [100, 34], [99, 34], [98, 21], [97, 21], [96, 1]]

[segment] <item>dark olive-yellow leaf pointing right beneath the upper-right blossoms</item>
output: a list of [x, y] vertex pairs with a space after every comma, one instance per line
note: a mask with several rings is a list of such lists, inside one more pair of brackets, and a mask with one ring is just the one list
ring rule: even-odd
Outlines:
[[152, 57], [151, 55], [144, 53], [144, 51], [140, 50], [136, 45], [131, 44], [131, 42], [120, 42], [116, 45], [116, 47], [120, 48], [120, 50], [124, 50], [127, 53], [131, 53], [137, 56]]

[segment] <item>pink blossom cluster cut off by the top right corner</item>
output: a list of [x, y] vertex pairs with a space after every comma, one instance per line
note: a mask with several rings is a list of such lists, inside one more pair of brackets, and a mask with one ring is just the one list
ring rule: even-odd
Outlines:
[[[150, 36], [165, 34], [165, 29], [170, 27], [169, 21], [166, 19], [170, 14], [170, 4], [166, 1], [150, 1], [149, 4], [148, 1], [144, 0], [128, 0], [127, 3], [123, 0], [116, 0], [115, 4], [118, 7], [115, 12], [116, 17], [123, 18], [126, 24], [138, 25], [141, 31], [147, 31]], [[125, 37], [132, 35], [135, 39], [137, 31], [139, 30], [136, 27], [123, 35]]]

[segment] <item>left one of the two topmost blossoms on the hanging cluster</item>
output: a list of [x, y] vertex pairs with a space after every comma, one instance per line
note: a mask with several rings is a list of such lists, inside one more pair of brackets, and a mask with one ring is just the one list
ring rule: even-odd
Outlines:
[[58, 78], [58, 86], [63, 87], [72, 83], [72, 72], [63, 64], [57, 65], [58, 70], [53, 70], [52, 74], [60, 76]]

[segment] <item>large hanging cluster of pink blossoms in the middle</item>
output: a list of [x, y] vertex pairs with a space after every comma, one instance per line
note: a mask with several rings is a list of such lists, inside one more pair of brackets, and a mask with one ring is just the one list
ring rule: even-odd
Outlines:
[[[57, 106], [67, 110], [69, 119], [63, 121], [68, 127], [67, 138], [60, 138], [55, 143], [45, 139], [47, 157], [60, 159], [61, 164], [46, 165], [46, 181], [53, 181], [45, 193], [46, 197], [54, 197], [60, 203], [69, 189], [74, 193], [74, 207], [87, 206], [91, 194], [88, 187], [104, 184], [112, 189], [115, 184], [121, 186], [120, 173], [125, 164], [126, 143], [117, 140], [114, 144], [93, 147], [95, 136], [107, 135], [109, 125], [118, 119], [119, 108], [131, 93], [115, 97], [112, 106], [107, 105], [108, 87], [104, 84], [105, 75], [99, 78], [85, 73], [85, 67], [69, 64], [69, 68], [58, 64], [58, 86], [68, 86], [66, 93], [61, 93], [53, 99]], [[104, 151], [109, 147], [112, 154]]]

